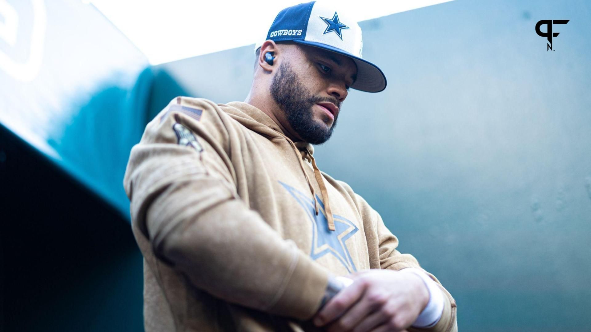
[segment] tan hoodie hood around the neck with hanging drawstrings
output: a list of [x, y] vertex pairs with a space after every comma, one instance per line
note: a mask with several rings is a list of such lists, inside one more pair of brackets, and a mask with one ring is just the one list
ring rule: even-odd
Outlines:
[[226, 105], [218, 104], [218, 106], [220, 106], [220, 108], [222, 108], [224, 112], [228, 113], [230, 117], [241, 123], [241, 125], [250, 129], [251, 131], [254, 131], [263, 136], [267, 136], [269, 139], [285, 139], [285, 141], [287, 141], [291, 145], [294, 153], [298, 156], [298, 160], [300, 161], [300, 168], [301, 171], [304, 173], [304, 177], [306, 178], [308, 186], [310, 187], [310, 191], [314, 199], [314, 209], [316, 210], [316, 215], [318, 215], [319, 204], [316, 199], [316, 193], [314, 192], [314, 187], [310, 182], [310, 178], [304, 170], [303, 161], [306, 160], [310, 162], [311, 167], [314, 170], [314, 177], [316, 178], [318, 186], [320, 187], [322, 199], [324, 201], [324, 211], [326, 212], [328, 227], [330, 230], [335, 230], [335, 220], [333, 219], [332, 210], [330, 209], [328, 191], [326, 190], [326, 185], [324, 184], [324, 178], [322, 177], [322, 173], [317, 167], [316, 160], [314, 160], [313, 157], [313, 145], [311, 145], [309, 142], [304, 141], [293, 142], [290, 138], [285, 136], [285, 133], [281, 131], [281, 128], [279, 128], [277, 123], [275, 123], [275, 121], [273, 121], [265, 112], [248, 103], [230, 102]]

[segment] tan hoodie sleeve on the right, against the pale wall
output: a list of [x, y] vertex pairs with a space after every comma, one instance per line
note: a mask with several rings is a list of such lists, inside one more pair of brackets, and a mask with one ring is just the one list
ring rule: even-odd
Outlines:
[[366, 232], [371, 232], [367, 235], [368, 245], [377, 246], [379, 253], [379, 268], [382, 269], [394, 269], [401, 270], [405, 268], [418, 268], [424, 271], [431, 279], [437, 282], [437, 286], [443, 292], [444, 306], [443, 313], [441, 314], [440, 320], [435, 326], [430, 328], [408, 328], [408, 332], [456, 332], [457, 331], [457, 315], [456, 315], [456, 301], [452, 295], [441, 285], [441, 282], [437, 278], [425, 271], [419, 265], [416, 258], [408, 253], [400, 253], [398, 248], [398, 237], [396, 237], [388, 227], [385, 226], [384, 220], [379, 213], [374, 210], [367, 201], [359, 194], [353, 192], [352, 188], [344, 183], [343, 181], [337, 181], [353, 197], [356, 206], [359, 209], [359, 213], [363, 218], [363, 224], [366, 227]]

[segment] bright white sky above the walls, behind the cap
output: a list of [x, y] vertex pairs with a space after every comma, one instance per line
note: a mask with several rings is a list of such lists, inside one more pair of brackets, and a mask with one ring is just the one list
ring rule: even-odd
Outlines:
[[[320, 0], [322, 1], [322, 0]], [[339, 1], [365, 21], [452, 0]], [[301, 0], [140, 1], [91, 0], [142, 51], [151, 64], [255, 44], [277, 13]]]

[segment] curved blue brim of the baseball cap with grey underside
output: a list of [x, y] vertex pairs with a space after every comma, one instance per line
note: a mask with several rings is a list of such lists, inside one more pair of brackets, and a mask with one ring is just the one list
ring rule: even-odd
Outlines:
[[330, 45], [316, 43], [314, 41], [306, 40], [290, 40], [294, 43], [310, 45], [323, 50], [332, 51], [334, 53], [342, 54], [353, 59], [357, 66], [357, 79], [351, 84], [351, 89], [361, 90], [365, 92], [381, 92], [386, 89], [386, 76], [381, 69], [375, 64], [363, 60], [360, 57], [353, 56], [353, 54], [347, 53], [339, 48], [332, 47]]

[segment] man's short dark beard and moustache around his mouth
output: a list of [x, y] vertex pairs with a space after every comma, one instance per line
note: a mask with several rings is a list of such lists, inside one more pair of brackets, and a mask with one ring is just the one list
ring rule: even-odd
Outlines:
[[312, 107], [319, 102], [331, 102], [339, 107], [336, 99], [315, 97], [300, 83], [295, 71], [283, 61], [271, 83], [271, 96], [285, 112], [291, 128], [310, 144], [320, 145], [328, 141], [336, 127], [336, 120], [330, 128], [314, 119]]

